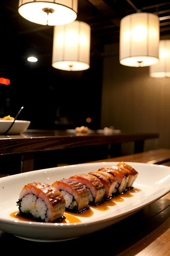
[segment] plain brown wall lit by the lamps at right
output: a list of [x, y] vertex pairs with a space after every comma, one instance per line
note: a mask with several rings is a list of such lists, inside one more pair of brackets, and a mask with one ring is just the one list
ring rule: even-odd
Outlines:
[[[149, 76], [149, 67], [119, 63], [119, 45], [105, 46], [101, 126], [133, 133], [158, 133], [145, 150], [170, 148], [170, 78]], [[128, 145], [124, 154], [132, 153]]]

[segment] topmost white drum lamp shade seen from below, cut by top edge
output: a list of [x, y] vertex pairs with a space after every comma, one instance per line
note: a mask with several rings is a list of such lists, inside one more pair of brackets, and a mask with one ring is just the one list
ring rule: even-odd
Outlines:
[[77, 0], [19, 0], [19, 14], [41, 25], [63, 25], [77, 18]]

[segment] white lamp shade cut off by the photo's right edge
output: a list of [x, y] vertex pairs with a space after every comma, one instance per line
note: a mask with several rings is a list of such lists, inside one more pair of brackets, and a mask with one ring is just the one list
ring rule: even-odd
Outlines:
[[150, 67], [151, 77], [170, 77], [170, 40], [159, 42], [159, 62]]

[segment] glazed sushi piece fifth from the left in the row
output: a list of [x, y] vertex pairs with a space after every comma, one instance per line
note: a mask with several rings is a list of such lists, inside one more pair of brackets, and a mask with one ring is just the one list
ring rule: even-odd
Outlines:
[[121, 172], [121, 169], [118, 166], [102, 167], [99, 171], [108, 172], [115, 177], [118, 182], [115, 188], [117, 188], [120, 194], [126, 190], [127, 177]]

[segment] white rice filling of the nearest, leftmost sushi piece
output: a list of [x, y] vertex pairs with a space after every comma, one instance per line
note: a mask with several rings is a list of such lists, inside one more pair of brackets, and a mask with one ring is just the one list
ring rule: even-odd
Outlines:
[[34, 194], [27, 194], [22, 198], [20, 210], [25, 212], [25, 210], [29, 210], [30, 214], [34, 217], [41, 217], [42, 220], [48, 222], [47, 214], [47, 206], [41, 198], [38, 198]]

